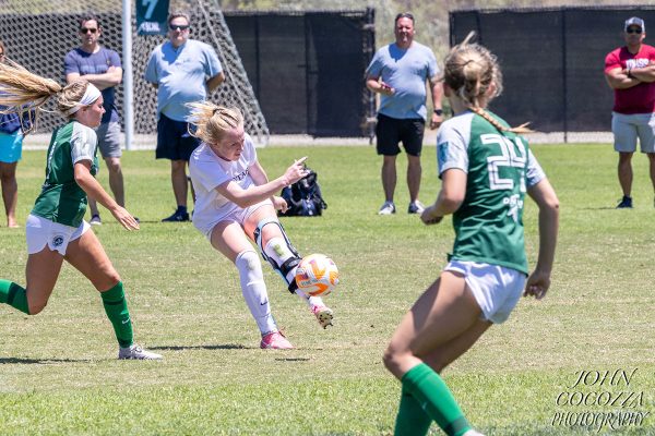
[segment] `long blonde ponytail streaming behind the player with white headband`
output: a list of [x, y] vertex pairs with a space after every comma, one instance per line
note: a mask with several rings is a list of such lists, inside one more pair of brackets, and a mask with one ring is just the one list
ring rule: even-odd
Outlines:
[[87, 86], [88, 82], [80, 78], [62, 87], [53, 80], [31, 73], [13, 61], [0, 63], [0, 106], [4, 106], [1, 112], [23, 114], [34, 110], [31, 130], [35, 129], [40, 112], [46, 110], [44, 106], [52, 97], [56, 97], [57, 110], [63, 117], [74, 118], [74, 114], [67, 112], [80, 104]]

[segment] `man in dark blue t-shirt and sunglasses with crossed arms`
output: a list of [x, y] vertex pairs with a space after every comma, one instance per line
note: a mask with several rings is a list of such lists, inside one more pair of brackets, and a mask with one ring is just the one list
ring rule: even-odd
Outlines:
[[[87, 15], [80, 20], [78, 28], [81, 45], [69, 51], [64, 58], [64, 74], [67, 83], [72, 83], [84, 77], [103, 93], [105, 114], [100, 125], [96, 129], [98, 147], [109, 171], [109, 187], [114, 193], [116, 203], [124, 207], [126, 193], [123, 185], [120, 157], [120, 117], [116, 107], [115, 87], [122, 82], [122, 65], [119, 55], [100, 46], [103, 33], [100, 21], [97, 16]], [[100, 214], [96, 201], [88, 198], [91, 223], [102, 225]]]

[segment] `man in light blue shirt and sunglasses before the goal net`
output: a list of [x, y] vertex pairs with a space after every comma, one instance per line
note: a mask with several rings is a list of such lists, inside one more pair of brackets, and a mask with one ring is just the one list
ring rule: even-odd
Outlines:
[[157, 159], [170, 159], [170, 179], [177, 210], [166, 222], [189, 220], [187, 165], [200, 141], [189, 134], [189, 102], [206, 100], [224, 81], [216, 51], [189, 39], [189, 16], [168, 17], [168, 40], [151, 53], [145, 80], [157, 88]]

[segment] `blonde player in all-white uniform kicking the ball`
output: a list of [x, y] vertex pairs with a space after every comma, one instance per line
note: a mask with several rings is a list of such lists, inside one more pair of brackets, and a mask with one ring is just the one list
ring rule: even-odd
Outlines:
[[196, 126], [192, 134], [202, 141], [189, 160], [195, 190], [193, 226], [239, 271], [243, 299], [262, 336], [260, 347], [291, 349], [271, 314], [262, 265], [251, 242], [284, 279], [288, 290], [308, 304], [321, 327], [331, 325], [332, 310], [296, 284], [300, 256], [276, 214], [285, 211], [287, 204], [275, 193], [307, 175], [305, 158], [295, 161], [283, 175], [269, 180], [238, 109], [211, 102], [190, 106], [192, 124]]

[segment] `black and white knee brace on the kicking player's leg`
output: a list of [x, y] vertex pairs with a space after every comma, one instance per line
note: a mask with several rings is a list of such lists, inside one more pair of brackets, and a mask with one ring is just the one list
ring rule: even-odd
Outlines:
[[[271, 238], [271, 240], [269, 240], [266, 243], [266, 246], [263, 246], [262, 229], [264, 226], [270, 223], [276, 225], [279, 228], [284, 239]], [[288, 286], [289, 292], [295, 293], [296, 289], [298, 289], [298, 284], [296, 284], [295, 279], [295, 271], [301, 259], [298, 251], [296, 251], [291, 244], [291, 241], [289, 241], [279, 221], [272, 217], [262, 219], [260, 222], [258, 222], [257, 229], [254, 230], [254, 239], [264, 261], [267, 261], [273, 269], [279, 276], [282, 276]]]

